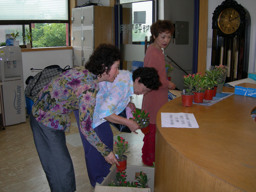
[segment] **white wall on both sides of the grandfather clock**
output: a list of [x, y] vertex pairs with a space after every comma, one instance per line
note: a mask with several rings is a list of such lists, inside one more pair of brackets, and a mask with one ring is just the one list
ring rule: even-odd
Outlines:
[[[208, 38], [212, 38], [212, 13], [223, 0], [209, 0], [208, 2]], [[256, 72], [256, 0], [236, 0], [241, 4], [251, 17], [250, 54], [248, 72]], [[212, 48], [207, 48], [206, 69], [211, 65]]]

